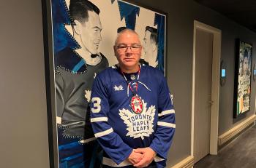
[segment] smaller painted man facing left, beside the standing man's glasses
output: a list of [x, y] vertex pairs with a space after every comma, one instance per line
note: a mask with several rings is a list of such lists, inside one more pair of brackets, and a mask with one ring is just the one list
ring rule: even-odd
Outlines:
[[157, 67], [157, 28], [146, 26], [145, 36], [143, 38], [143, 49], [145, 52], [145, 61], [153, 67]]

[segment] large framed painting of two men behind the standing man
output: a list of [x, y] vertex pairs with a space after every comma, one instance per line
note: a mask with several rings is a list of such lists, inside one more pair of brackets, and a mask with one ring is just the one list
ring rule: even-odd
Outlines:
[[140, 63], [165, 74], [167, 15], [122, 0], [47, 0], [42, 7], [50, 164], [101, 167], [89, 116], [94, 78], [118, 63], [113, 45], [124, 28], [140, 36]]

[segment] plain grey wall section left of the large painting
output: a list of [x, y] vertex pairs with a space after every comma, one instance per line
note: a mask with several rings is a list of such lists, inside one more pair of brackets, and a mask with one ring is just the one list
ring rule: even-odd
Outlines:
[[0, 167], [49, 167], [40, 0], [0, 4]]

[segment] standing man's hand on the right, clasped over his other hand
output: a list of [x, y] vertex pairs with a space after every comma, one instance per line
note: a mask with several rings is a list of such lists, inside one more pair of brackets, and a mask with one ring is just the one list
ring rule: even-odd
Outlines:
[[154, 157], [157, 155], [153, 149], [147, 148], [138, 148], [135, 149], [135, 153], [141, 153], [143, 155], [143, 159], [140, 160], [137, 164], [134, 164], [134, 167], [147, 167], [154, 160]]

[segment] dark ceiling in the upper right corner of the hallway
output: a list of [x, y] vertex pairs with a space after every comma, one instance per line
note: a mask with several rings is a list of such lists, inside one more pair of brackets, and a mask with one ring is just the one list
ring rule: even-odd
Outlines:
[[255, 0], [195, 0], [256, 32]]

